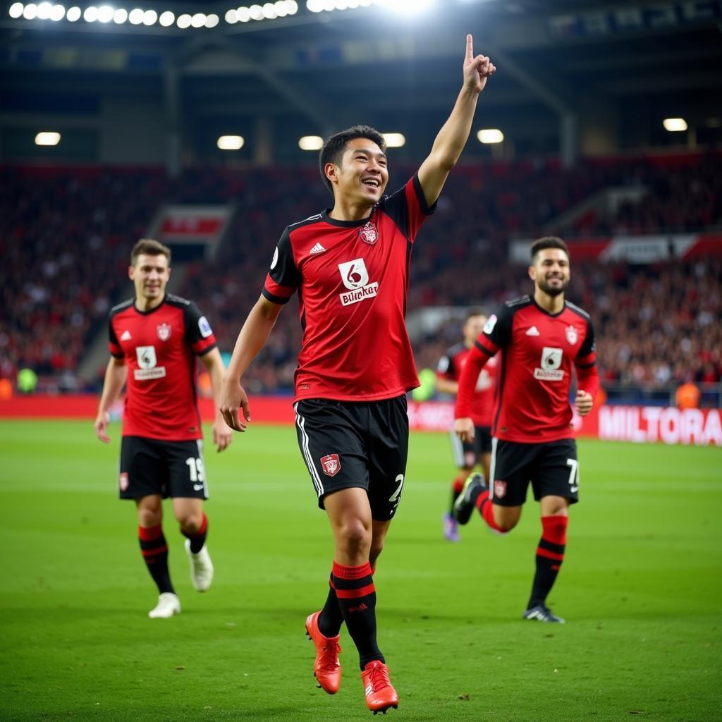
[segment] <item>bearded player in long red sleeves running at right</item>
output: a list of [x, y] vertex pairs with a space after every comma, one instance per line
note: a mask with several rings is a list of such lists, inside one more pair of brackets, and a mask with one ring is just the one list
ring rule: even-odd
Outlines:
[[572, 367], [580, 416], [591, 411], [599, 374], [591, 319], [564, 298], [570, 279], [566, 243], [560, 238], [534, 241], [529, 277], [534, 294], [508, 301], [489, 318], [461, 373], [454, 428], [462, 441], [469, 441], [474, 438], [474, 386], [487, 361], [500, 352], [490, 484], [472, 474], [454, 516], [465, 524], [476, 508], [491, 529], [510, 531], [521, 517], [531, 481], [542, 532], [523, 618], [564, 622], [547, 606], [547, 595], [564, 560], [569, 506], [579, 498], [569, 403]]

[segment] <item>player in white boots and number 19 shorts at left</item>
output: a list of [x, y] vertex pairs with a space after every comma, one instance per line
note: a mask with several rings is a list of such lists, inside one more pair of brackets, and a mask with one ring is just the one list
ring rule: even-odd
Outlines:
[[[165, 292], [170, 249], [142, 239], [131, 251], [128, 275], [135, 298], [110, 310], [110, 361], [95, 419], [95, 434], [108, 443], [108, 411], [127, 383], [118, 474], [121, 499], [138, 510], [140, 549], [160, 596], [149, 617], [173, 617], [181, 603], [170, 582], [168, 545], [162, 529], [162, 499], [186, 537], [191, 581], [206, 591], [213, 564], [206, 548], [208, 498], [201, 417], [196, 404], [195, 367], [200, 356], [218, 406], [223, 362], [205, 316], [191, 301]], [[213, 424], [218, 451], [230, 444], [231, 430], [219, 412]]]

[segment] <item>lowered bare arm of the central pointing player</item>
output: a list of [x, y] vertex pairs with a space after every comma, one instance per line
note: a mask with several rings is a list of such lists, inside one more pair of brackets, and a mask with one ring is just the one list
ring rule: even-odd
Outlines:
[[240, 377], [245, 373], [256, 354], [264, 347], [278, 318], [282, 304], [273, 303], [261, 296], [245, 319], [235, 342], [233, 355], [226, 370], [223, 381], [220, 412], [223, 419], [232, 429], [245, 431], [245, 423], [238, 416], [238, 409], [243, 409], [245, 422], [251, 421], [251, 409], [248, 407], [248, 396], [245, 395]]

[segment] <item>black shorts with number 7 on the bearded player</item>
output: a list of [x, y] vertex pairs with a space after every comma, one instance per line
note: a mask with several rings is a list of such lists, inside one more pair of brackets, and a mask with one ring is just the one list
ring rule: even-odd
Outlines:
[[494, 439], [490, 470], [492, 500], [501, 506], [518, 506], [526, 501], [531, 482], [534, 499], [545, 496], [579, 500], [579, 464], [574, 439], [540, 444], [522, 444]]

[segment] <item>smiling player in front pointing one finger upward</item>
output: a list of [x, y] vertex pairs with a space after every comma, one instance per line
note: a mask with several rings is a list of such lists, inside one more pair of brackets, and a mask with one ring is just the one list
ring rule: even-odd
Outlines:
[[419, 385], [404, 323], [409, 259], [494, 70], [489, 58], [474, 56], [467, 36], [464, 86], [451, 116], [417, 173], [391, 196], [383, 193], [388, 167], [378, 131], [355, 126], [326, 141], [321, 177], [334, 206], [284, 230], [224, 382], [223, 415], [244, 431], [251, 415], [240, 377], [298, 291], [303, 343], [295, 373], [297, 438], [334, 534], [329, 593], [321, 611], [306, 619], [306, 631], [316, 646], [318, 684], [334, 694], [345, 623], [374, 712], [399, 701], [376, 643], [373, 571], [404, 486], [406, 391]]

